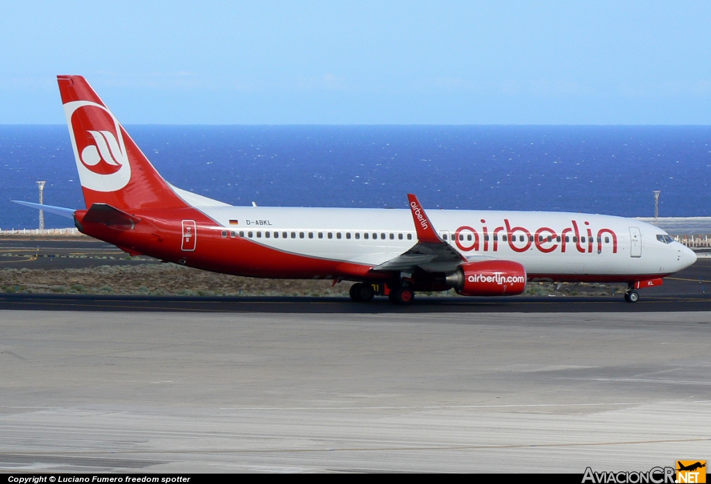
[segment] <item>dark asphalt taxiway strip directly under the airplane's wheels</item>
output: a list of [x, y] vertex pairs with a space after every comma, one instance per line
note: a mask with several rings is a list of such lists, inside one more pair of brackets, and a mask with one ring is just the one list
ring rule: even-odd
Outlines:
[[636, 303], [616, 297], [421, 297], [410, 306], [387, 298], [354, 303], [343, 297], [188, 297], [0, 294], [0, 310], [286, 313], [286, 314], [422, 314], [422, 313], [645, 313], [711, 311], [711, 294], [646, 296]]

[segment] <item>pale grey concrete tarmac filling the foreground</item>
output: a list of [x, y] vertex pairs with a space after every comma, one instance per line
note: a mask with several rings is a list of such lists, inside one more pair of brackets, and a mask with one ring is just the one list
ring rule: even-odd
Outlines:
[[0, 311], [0, 470], [648, 470], [711, 456], [711, 313]]

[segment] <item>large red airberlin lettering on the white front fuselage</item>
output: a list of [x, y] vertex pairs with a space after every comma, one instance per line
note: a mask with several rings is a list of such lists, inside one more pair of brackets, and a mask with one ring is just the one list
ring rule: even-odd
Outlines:
[[[485, 224], [486, 220], [482, 219], [481, 223]], [[546, 254], [566, 250], [584, 254], [591, 253], [594, 249], [601, 254], [603, 247], [609, 247], [607, 250], [611, 250], [613, 254], [617, 253], [617, 235], [613, 230], [601, 228], [596, 232], [590, 227], [590, 222], [579, 224], [576, 220], [571, 220], [570, 226], [559, 233], [550, 227], [540, 227], [532, 232], [525, 227], [512, 226], [505, 218], [503, 225], [491, 231], [486, 225], [482, 225], [481, 235], [474, 227], [462, 225], [454, 233], [453, 239], [456, 247], [464, 252], [480, 249], [483, 252], [497, 252], [499, 244], [508, 244], [513, 252], [526, 252], [535, 247]], [[571, 244], [574, 247], [570, 247]]]

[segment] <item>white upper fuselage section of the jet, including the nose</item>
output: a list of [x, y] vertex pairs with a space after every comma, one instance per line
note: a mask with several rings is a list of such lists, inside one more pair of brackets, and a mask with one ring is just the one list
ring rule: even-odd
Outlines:
[[[242, 235], [317, 259], [378, 266], [417, 242], [410, 210], [196, 208], [221, 225], [215, 230], [228, 230], [228, 238]], [[667, 235], [658, 227], [623, 217], [483, 210], [430, 210], [428, 215], [440, 237], [469, 261], [512, 260], [533, 278], [588, 274], [614, 281], [672, 274], [696, 260], [683, 244], [658, 240]]]

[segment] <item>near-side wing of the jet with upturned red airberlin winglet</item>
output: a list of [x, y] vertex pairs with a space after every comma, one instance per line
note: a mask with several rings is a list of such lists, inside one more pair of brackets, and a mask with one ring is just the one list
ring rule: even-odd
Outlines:
[[373, 270], [412, 272], [419, 267], [427, 272], [447, 272], [467, 262], [464, 256], [437, 235], [417, 197], [408, 193], [407, 198], [410, 201], [412, 220], [415, 221], [415, 230], [417, 230], [417, 244], [407, 252], [373, 267]]

